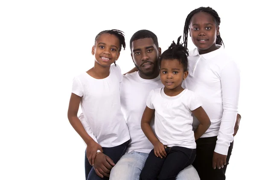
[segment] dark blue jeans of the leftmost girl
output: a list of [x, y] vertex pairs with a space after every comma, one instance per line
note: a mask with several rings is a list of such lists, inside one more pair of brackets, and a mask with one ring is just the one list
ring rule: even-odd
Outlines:
[[[103, 149], [103, 153], [106, 154], [108, 157], [111, 158], [111, 160], [113, 160], [113, 162], [116, 164], [117, 161], [122, 157], [123, 154], [125, 154], [126, 148], [128, 145], [128, 141], [119, 145], [119, 146], [115, 146], [112, 148], [104, 148]], [[86, 157], [86, 151], [85, 151], [85, 179], [86, 180], [108, 180], [108, 177], [99, 177], [95, 170], [93, 169], [93, 166], [90, 165], [87, 157]]]

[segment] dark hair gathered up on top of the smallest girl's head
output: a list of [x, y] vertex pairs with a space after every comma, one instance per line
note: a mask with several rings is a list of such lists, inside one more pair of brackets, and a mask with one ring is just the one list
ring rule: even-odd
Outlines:
[[188, 56], [189, 56], [189, 51], [188, 49], [183, 46], [183, 43], [180, 43], [180, 38], [177, 40], [177, 44], [172, 41], [171, 46], [161, 54], [160, 59], [159, 59], [159, 69], [161, 66], [161, 61], [162, 60], [178, 60], [182, 65], [183, 65], [183, 70], [188, 71]]

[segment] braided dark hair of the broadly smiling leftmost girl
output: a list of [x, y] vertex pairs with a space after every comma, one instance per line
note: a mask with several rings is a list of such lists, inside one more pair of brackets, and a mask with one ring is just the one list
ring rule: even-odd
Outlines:
[[[111, 29], [111, 30], [105, 30], [105, 31], [101, 31], [99, 34], [96, 35], [95, 37], [95, 42], [94, 44], [96, 44], [96, 41], [99, 39], [100, 35], [102, 34], [113, 34], [115, 35], [118, 39], [119, 39], [119, 52], [121, 51], [122, 47], [125, 50], [125, 35], [123, 31], [117, 30], [117, 29]], [[114, 62], [115, 66], [116, 66], [116, 61]]]

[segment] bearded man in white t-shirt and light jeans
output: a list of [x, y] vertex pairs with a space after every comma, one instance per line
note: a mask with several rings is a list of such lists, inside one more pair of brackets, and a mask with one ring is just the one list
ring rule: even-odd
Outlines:
[[[157, 36], [148, 30], [137, 31], [131, 37], [130, 48], [131, 57], [138, 71], [123, 76], [121, 106], [131, 140], [126, 153], [111, 169], [110, 180], [139, 180], [148, 154], [154, 148], [145, 137], [140, 123], [148, 93], [152, 89], [163, 87], [157, 65], [161, 48], [158, 46]], [[83, 120], [82, 116], [80, 120]], [[93, 167], [97, 169], [97, 174], [103, 177], [108, 176], [109, 171], [106, 171], [106, 167], [109, 167], [109, 164], [108, 157], [102, 160], [96, 156]], [[193, 166], [188, 166], [180, 171], [177, 180], [199, 180], [199, 176]]]

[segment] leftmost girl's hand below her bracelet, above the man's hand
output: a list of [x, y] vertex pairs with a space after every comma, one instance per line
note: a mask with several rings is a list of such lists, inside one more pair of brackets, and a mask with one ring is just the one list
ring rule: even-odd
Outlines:
[[90, 141], [90, 143], [87, 144], [86, 157], [91, 166], [94, 165], [94, 160], [97, 154], [97, 150], [100, 150], [101, 152], [103, 152], [102, 146], [100, 146], [94, 140]]

